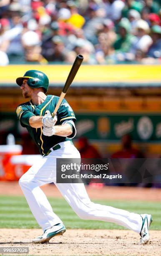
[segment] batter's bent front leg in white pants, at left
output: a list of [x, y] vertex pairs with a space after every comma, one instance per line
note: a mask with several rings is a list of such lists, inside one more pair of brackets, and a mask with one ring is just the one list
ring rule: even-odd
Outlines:
[[26, 197], [30, 210], [43, 230], [62, 223], [60, 218], [53, 212], [47, 197], [40, 186], [53, 182], [53, 161], [48, 157], [40, 159], [19, 180], [19, 184]]

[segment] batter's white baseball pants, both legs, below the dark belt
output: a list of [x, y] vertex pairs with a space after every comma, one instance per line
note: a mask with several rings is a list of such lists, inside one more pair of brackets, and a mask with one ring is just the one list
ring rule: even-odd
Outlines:
[[80, 218], [113, 222], [140, 233], [142, 218], [139, 214], [91, 202], [83, 183], [56, 183], [56, 158], [80, 158], [79, 151], [70, 141], [59, 144], [61, 146], [60, 149], [42, 157], [41, 161], [33, 164], [19, 180], [30, 210], [43, 230], [57, 223], [62, 223], [60, 218], [53, 212], [44, 192], [40, 189], [43, 184], [54, 182], [65, 200]]

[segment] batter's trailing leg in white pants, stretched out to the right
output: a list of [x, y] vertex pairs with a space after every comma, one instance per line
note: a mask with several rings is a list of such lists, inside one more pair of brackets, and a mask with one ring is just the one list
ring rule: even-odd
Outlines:
[[140, 233], [142, 218], [139, 214], [91, 202], [84, 184], [55, 185], [80, 218], [113, 222]]

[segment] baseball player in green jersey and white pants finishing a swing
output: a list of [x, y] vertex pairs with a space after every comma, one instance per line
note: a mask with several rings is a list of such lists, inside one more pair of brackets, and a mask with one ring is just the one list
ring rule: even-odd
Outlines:
[[91, 202], [83, 183], [56, 183], [56, 158], [80, 158], [71, 139], [76, 134], [75, 115], [64, 99], [57, 116], [52, 113], [59, 97], [45, 95], [48, 77], [40, 71], [29, 70], [16, 79], [25, 99], [30, 101], [18, 106], [16, 112], [20, 123], [26, 127], [37, 144], [42, 159], [23, 174], [19, 184], [35, 219], [43, 229], [43, 235], [33, 239], [33, 243], [46, 243], [54, 236], [63, 235], [65, 226], [53, 212], [40, 186], [54, 182], [61, 194], [76, 214], [84, 220], [113, 222], [140, 234], [140, 244], [149, 240], [151, 215], [136, 214], [111, 206]]

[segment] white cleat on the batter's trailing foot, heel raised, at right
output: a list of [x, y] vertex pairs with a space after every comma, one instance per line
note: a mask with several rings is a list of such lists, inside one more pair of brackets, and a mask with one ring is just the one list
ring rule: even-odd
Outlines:
[[140, 243], [139, 244], [146, 244], [149, 241], [149, 227], [152, 223], [152, 216], [150, 214], [141, 214], [141, 218], [143, 220], [143, 224], [141, 227], [140, 232]]

